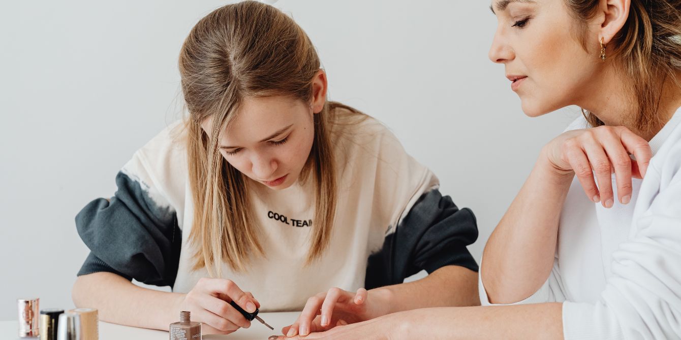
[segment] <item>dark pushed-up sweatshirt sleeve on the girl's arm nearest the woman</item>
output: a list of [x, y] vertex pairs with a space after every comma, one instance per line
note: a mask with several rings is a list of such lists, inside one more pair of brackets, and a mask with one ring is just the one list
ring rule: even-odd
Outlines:
[[478, 271], [466, 249], [477, 239], [473, 211], [458, 209], [449, 196], [430, 190], [413, 205], [394, 231], [385, 236], [383, 248], [371, 254], [366, 267], [366, 289], [401, 284], [405, 278], [457, 265]]

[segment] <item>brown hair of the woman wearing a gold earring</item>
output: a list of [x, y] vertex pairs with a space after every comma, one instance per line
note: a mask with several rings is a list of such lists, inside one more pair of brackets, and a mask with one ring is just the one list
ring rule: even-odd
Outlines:
[[[592, 18], [600, 0], [565, 0], [573, 17], [580, 23], [578, 33], [587, 50], [586, 22]], [[667, 80], [676, 86], [681, 71], [681, 0], [631, 0], [629, 18], [615, 35], [612, 43], [620, 71], [631, 80], [638, 105], [635, 126], [639, 131], [650, 131], [660, 124], [658, 114], [663, 85]], [[584, 116], [592, 126], [603, 122], [591, 112]]]

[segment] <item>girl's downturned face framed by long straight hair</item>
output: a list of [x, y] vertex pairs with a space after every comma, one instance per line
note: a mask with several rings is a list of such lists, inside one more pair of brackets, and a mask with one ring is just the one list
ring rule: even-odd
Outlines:
[[[290, 97], [245, 98], [239, 114], [219, 136], [227, 162], [274, 190], [298, 180], [315, 139], [313, 107]], [[212, 118], [201, 124], [210, 136]]]

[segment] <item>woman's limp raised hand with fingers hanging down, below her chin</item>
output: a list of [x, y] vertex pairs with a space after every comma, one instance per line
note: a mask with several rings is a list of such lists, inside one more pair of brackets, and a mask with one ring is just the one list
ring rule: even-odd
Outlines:
[[[590, 200], [609, 208], [614, 204], [612, 173], [620, 202], [629, 203], [631, 178], [643, 178], [652, 150], [645, 139], [624, 126], [599, 126], [567, 131], [544, 146], [542, 154], [560, 173], [577, 175]], [[636, 160], [632, 161], [629, 154]]]

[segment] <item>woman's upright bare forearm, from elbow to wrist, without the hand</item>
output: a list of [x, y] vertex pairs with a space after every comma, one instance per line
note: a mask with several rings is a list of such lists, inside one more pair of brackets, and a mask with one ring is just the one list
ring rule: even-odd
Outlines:
[[536, 292], [551, 272], [558, 222], [573, 179], [540, 156], [484, 250], [481, 279], [492, 303]]

